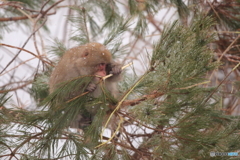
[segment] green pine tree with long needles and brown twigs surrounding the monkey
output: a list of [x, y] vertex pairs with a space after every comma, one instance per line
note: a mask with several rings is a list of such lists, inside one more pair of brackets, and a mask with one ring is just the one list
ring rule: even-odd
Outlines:
[[[20, 47], [0, 43], [1, 57], [9, 54], [6, 48], [17, 50], [1, 63], [0, 159], [239, 158], [210, 154], [240, 149], [239, 6], [234, 0], [2, 1], [0, 38], [16, 25], [31, 32]], [[163, 24], [159, 16], [166, 8], [176, 11], [167, 12], [175, 20]], [[47, 20], [64, 10], [62, 39], [45, 45]], [[31, 38], [34, 51], [25, 49]], [[76, 77], [49, 94], [57, 60], [67, 49], [92, 41], [106, 45], [123, 64], [140, 62], [124, 73], [120, 98], [105, 91], [98, 98], [63, 98], [91, 77]], [[30, 68], [24, 65], [28, 60], [18, 58], [21, 54], [38, 59], [27, 80], [17, 74], [19, 64]], [[28, 108], [16, 94], [20, 89], [33, 99]], [[89, 127], [83, 132], [69, 128], [77, 113], [85, 114], [84, 106], [96, 103], [101, 109]], [[109, 134], [106, 126], [113, 116], [117, 128]]]

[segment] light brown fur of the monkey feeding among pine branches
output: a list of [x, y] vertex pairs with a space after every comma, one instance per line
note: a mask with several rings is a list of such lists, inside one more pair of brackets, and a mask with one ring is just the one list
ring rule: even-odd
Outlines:
[[[112, 73], [113, 76], [106, 79], [105, 87], [113, 96], [117, 97], [117, 82], [120, 80], [120, 68], [121, 66], [112, 60], [111, 53], [100, 43], [87, 43], [82, 46], [74, 47], [66, 51], [62, 59], [56, 65], [53, 70], [50, 81], [50, 93], [52, 93], [59, 83], [71, 80], [75, 77], [83, 75], [96, 75], [96, 66], [104, 63], [107, 65], [106, 73]], [[120, 71], [120, 72], [119, 72]], [[92, 84], [96, 85], [96, 88], [90, 93], [93, 97], [97, 98], [102, 94], [102, 90], [97, 81], [99, 79], [94, 78]], [[92, 85], [89, 84], [89, 85]], [[92, 86], [91, 90], [92, 90]], [[79, 93], [77, 93], [79, 94]], [[92, 114], [94, 117], [94, 114]], [[83, 118], [82, 115], [78, 115], [76, 120], [71, 124], [71, 127], [78, 128], [84, 126], [84, 123], [92, 118]]]

